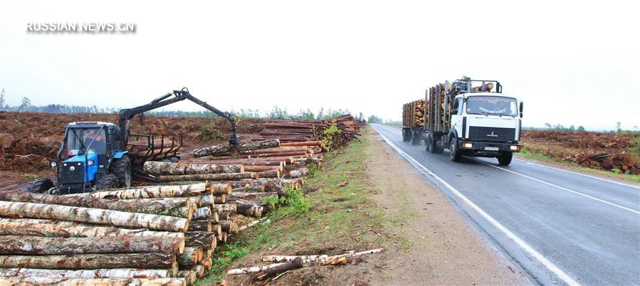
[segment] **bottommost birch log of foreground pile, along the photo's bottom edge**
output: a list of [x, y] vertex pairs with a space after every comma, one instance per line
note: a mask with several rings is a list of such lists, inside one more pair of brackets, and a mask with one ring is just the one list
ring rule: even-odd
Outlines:
[[184, 278], [50, 278], [50, 277], [0, 277], [0, 285], [57, 285], [57, 286], [184, 286]]

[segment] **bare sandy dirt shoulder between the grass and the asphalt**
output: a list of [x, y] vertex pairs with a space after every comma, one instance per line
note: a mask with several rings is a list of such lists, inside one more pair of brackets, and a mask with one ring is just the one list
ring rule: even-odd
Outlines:
[[374, 131], [367, 171], [382, 192], [379, 206], [404, 223], [388, 223], [408, 245], [372, 285], [527, 285], [518, 268], [477, 233], [441, 192]]

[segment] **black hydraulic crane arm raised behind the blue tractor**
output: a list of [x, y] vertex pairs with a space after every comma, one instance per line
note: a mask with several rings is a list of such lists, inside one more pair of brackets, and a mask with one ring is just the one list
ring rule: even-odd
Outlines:
[[139, 115], [149, 110], [154, 110], [154, 109], [163, 107], [165, 105], [170, 105], [174, 102], [179, 102], [182, 100], [191, 100], [192, 102], [195, 102], [197, 105], [200, 105], [201, 107], [204, 107], [207, 110], [214, 112], [216, 115], [219, 115], [220, 117], [224, 117], [226, 118], [226, 120], [229, 120], [229, 123], [231, 124], [231, 137], [229, 137], [229, 145], [231, 147], [236, 147], [238, 145], [238, 134], [236, 134], [235, 115], [232, 115], [229, 112], [223, 112], [221, 110], [218, 110], [216, 107], [213, 107], [207, 104], [206, 102], [197, 99], [196, 97], [191, 95], [191, 93], [189, 93], [189, 90], [187, 88], [182, 88], [182, 90], [174, 90], [173, 92], [169, 92], [166, 95], [162, 95], [161, 97], [154, 99], [152, 102], [149, 102], [146, 105], [141, 105], [139, 107], [120, 110], [120, 120], [118, 123], [120, 125], [120, 132], [121, 132], [123, 144], [127, 144], [127, 142], [129, 141], [129, 120], [135, 117], [135, 115]]

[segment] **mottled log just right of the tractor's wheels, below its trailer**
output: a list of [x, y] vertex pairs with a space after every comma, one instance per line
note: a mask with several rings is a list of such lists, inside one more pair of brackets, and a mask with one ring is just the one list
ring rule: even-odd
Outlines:
[[239, 164], [222, 165], [146, 161], [144, 168], [147, 173], [152, 175], [194, 175], [244, 172], [244, 167]]

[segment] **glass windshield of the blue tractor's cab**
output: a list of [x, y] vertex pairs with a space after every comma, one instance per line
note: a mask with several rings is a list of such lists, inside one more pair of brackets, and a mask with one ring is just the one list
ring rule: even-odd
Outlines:
[[69, 128], [68, 130], [67, 149], [69, 151], [69, 156], [85, 153], [105, 154], [107, 149], [105, 129]]

